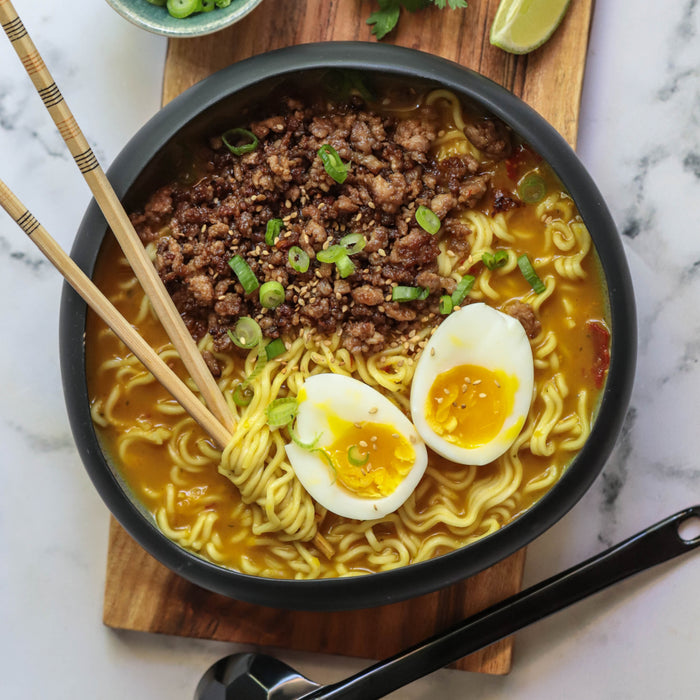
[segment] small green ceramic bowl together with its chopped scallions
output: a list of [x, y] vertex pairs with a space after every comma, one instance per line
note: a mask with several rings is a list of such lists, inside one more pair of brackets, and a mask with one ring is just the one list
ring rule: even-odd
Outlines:
[[141, 29], [171, 37], [212, 34], [254, 10], [262, 0], [107, 0]]

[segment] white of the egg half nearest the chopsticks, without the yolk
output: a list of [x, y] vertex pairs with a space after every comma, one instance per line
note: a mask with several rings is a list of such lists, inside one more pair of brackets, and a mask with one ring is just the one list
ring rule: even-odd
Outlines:
[[[295, 430], [302, 443], [330, 446], [334, 416], [351, 423], [391, 425], [415, 451], [415, 462], [396, 489], [381, 498], [357, 496], [336, 483], [324, 459], [296, 443], [286, 446], [292, 468], [309, 495], [329, 511], [356, 520], [374, 520], [397, 510], [418, 485], [428, 464], [425, 444], [411, 421], [376, 389], [340, 374], [309, 377], [299, 392]], [[330, 420], [329, 420], [330, 419]]]

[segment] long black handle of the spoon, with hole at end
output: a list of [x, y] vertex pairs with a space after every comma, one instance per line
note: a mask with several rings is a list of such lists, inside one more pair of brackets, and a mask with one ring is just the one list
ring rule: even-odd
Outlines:
[[697, 518], [700, 518], [700, 505], [676, 513], [582, 564], [304, 698], [372, 700], [384, 697], [613, 583], [699, 547], [700, 535], [684, 539], [679, 531], [686, 521]]

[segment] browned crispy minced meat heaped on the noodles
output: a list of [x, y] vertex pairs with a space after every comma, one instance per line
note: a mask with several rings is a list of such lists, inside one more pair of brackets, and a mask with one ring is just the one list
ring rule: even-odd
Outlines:
[[[338, 333], [351, 352], [377, 352], [439, 323], [440, 295], [451, 293], [455, 281], [439, 274], [438, 243], [444, 240], [458, 259], [468, 256], [469, 229], [459, 213], [479, 204], [490, 174], [470, 155], [435, 158], [438, 112], [423, 107], [398, 119], [358, 98], [323, 106], [287, 99], [278, 113], [247, 128], [259, 139], [255, 150], [234, 155], [220, 137], [212, 138], [199, 181], [159, 189], [132, 215], [144, 243], [156, 242], [156, 268], [192, 335], [209, 333], [215, 350], [228, 350], [227, 330], [251, 316], [268, 338], [311, 327]], [[502, 124], [480, 122], [470, 131], [489, 157], [510, 152]], [[323, 144], [349, 166], [342, 184], [317, 156]], [[417, 223], [420, 205], [441, 219], [438, 235]], [[265, 243], [270, 219], [283, 221], [273, 245]], [[361, 233], [367, 243], [352, 255], [354, 271], [343, 279], [316, 254], [348, 233]], [[290, 265], [292, 246], [308, 254], [308, 271]], [[282, 283], [280, 306], [265, 309], [257, 290], [244, 293], [228, 264], [236, 254], [261, 284]], [[397, 284], [425, 287], [429, 294], [397, 303]]]

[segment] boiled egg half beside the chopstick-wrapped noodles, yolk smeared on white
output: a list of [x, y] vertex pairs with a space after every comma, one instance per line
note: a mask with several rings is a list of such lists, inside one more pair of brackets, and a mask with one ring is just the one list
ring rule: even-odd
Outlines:
[[314, 500], [357, 520], [381, 518], [403, 505], [428, 455], [411, 421], [389, 399], [357, 379], [316, 374], [304, 382], [297, 403], [296, 441], [286, 446], [287, 456]]

